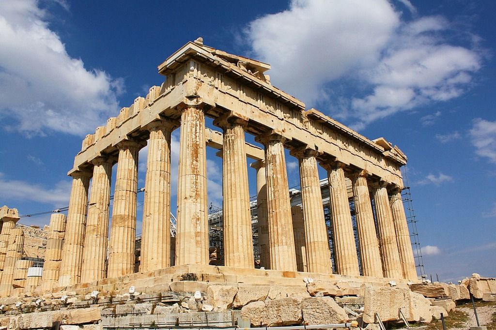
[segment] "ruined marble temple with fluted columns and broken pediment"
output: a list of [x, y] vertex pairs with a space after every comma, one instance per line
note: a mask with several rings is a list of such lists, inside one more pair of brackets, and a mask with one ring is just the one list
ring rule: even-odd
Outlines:
[[[206, 148], [214, 147], [222, 150], [225, 267], [255, 268], [248, 195], [248, 170], [255, 170], [260, 264], [266, 270], [332, 274], [330, 239], [336, 274], [417, 279], [400, 194], [405, 155], [384, 138], [371, 141], [318, 110], [306, 110], [303, 102], [271, 85], [269, 69], [269, 64], [207, 47], [201, 38], [160, 64], [161, 86], [151, 87], [145, 98], [136, 98], [83, 140], [68, 172], [67, 218], [52, 219], [42, 287], [135, 272], [138, 152], [147, 141], [140, 272], [208, 265]], [[206, 128], [205, 117], [213, 118], [222, 133]], [[177, 234], [171, 258], [171, 133], [178, 128]], [[246, 133], [263, 148], [246, 143]], [[299, 160], [301, 207], [290, 204], [285, 149]], [[324, 220], [319, 166], [327, 170], [332, 237]], [[22, 236], [11, 225], [18, 218], [7, 211], [1, 217], [0, 241], [14, 244]], [[5, 274], [12, 267], [9, 252], [3, 252], [0, 289], [11, 280]]]

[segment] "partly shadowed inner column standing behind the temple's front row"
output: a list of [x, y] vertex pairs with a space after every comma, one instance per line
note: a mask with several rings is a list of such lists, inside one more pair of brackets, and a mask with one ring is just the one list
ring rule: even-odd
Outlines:
[[256, 161], [251, 163], [250, 167], [256, 169], [256, 217], [258, 222], [258, 253], [260, 254], [260, 267], [270, 269], [265, 161]]

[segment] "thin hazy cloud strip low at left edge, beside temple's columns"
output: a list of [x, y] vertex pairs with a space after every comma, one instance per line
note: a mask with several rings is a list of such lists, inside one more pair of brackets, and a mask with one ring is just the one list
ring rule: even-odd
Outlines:
[[8, 180], [0, 172], [0, 198], [9, 201], [33, 201], [64, 207], [69, 203], [71, 181], [59, 181], [54, 187], [21, 180]]

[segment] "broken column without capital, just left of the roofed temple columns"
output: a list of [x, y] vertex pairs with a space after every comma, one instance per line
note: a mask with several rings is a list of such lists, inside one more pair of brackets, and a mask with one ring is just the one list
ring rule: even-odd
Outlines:
[[59, 273], [62, 263], [62, 250], [65, 235], [66, 218], [62, 213], [53, 214], [50, 217], [50, 231], [45, 251], [45, 262], [41, 276], [41, 289], [51, 290], [59, 283]]

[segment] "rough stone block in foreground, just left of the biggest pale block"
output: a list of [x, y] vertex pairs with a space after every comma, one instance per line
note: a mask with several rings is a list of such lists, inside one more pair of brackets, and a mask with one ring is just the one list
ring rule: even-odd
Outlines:
[[331, 297], [312, 297], [302, 301], [303, 322], [307, 326], [348, 321], [348, 314]]

